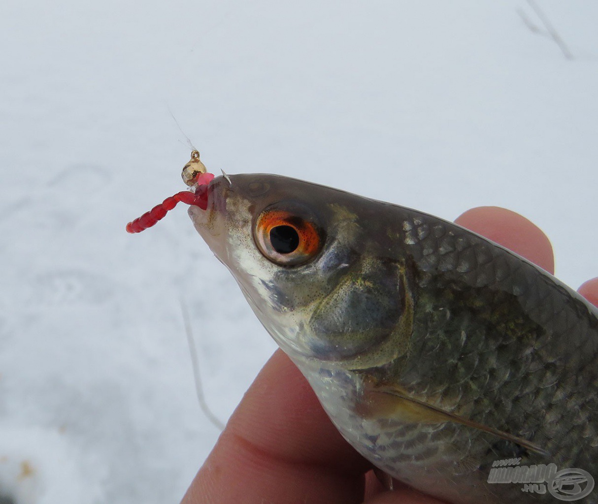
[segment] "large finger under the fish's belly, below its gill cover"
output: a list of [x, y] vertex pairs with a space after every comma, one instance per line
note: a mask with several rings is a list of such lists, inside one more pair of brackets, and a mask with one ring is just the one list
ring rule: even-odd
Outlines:
[[358, 503], [371, 468], [277, 350], [200, 469], [183, 504]]

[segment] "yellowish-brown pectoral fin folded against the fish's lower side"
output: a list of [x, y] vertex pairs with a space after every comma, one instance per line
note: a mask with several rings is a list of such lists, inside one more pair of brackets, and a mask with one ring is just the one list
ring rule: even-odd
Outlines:
[[420, 401], [411, 397], [398, 387], [366, 387], [362, 395], [362, 401], [358, 404], [358, 413], [364, 417], [396, 417], [401, 419], [422, 423], [441, 423], [452, 421], [460, 423], [472, 429], [481, 430], [513, 442], [526, 448], [528, 451], [548, 456], [548, 452], [538, 445], [527, 441], [527, 439], [514, 436], [503, 430], [495, 429], [465, 417], [459, 416], [450, 411], [443, 410], [438, 406]]

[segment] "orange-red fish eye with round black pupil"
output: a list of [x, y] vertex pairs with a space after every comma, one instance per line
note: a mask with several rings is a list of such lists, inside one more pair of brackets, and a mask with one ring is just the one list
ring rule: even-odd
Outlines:
[[276, 264], [304, 264], [321, 250], [318, 225], [309, 213], [294, 210], [269, 207], [255, 221], [255, 243], [262, 255]]

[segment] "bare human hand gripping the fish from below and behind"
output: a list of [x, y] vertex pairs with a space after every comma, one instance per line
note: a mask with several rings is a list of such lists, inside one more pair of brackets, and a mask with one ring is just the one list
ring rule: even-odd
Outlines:
[[[554, 272], [547, 237], [517, 213], [479, 207], [456, 222]], [[598, 306], [598, 278], [579, 292]], [[441, 504], [400, 483], [386, 491], [371, 469], [332, 425], [301, 372], [277, 350], [182, 504]]]

